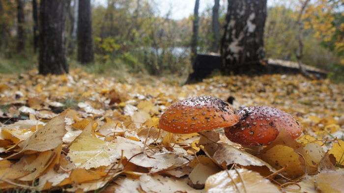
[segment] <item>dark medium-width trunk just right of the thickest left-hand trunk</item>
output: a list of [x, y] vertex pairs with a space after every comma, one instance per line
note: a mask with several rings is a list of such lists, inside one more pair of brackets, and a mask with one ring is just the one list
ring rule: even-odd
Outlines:
[[93, 61], [93, 39], [90, 0], [79, 2], [78, 61], [82, 64]]

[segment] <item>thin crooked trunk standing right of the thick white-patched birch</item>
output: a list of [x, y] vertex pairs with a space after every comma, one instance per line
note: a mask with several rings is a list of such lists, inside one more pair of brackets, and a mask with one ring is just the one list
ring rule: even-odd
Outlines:
[[298, 28], [297, 41], [299, 43], [299, 47], [296, 51], [296, 59], [297, 59], [297, 63], [299, 64], [299, 70], [300, 70], [302, 75], [304, 75], [305, 77], [308, 77], [308, 78], [310, 78], [310, 75], [306, 71], [306, 69], [304, 68], [304, 66], [301, 62], [301, 59], [303, 57], [303, 42], [302, 42], [303, 25], [302, 25], [301, 20], [302, 20], [302, 15], [303, 15], [309, 1], [310, 0], [305, 0], [302, 2], [301, 9], [300, 9], [299, 15], [297, 17], [297, 28]]

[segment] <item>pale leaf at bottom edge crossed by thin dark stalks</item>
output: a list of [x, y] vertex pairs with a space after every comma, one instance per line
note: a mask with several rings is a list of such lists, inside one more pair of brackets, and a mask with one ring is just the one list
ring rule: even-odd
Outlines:
[[277, 186], [259, 173], [244, 168], [221, 171], [205, 182], [207, 193], [279, 193]]

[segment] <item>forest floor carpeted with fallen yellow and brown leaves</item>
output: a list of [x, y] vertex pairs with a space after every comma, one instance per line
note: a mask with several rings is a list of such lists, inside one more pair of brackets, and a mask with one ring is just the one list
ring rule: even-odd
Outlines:
[[[307, 157], [300, 158], [294, 151], [284, 149], [282, 153], [272, 152], [274, 158], [259, 157], [266, 167], [257, 169], [255, 166], [262, 165], [252, 163], [258, 158], [240, 149], [251, 164], [243, 166], [242, 162], [233, 161], [236, 169], [228, 173], [233, 179], [224, 180], [226, 186], [219, 188], [216, 183], [220, 182], [208, 178], [207, 191], [250, 192], [256, 186], [254, 181], [261, 183], [258, 187], [262, 192], [298, 189], [294, 182], [308, 192], [324, 190], [327, 185], [343, 190], [344, 182], [339, 182], [343, 178], [333, 178], [344, 173], [340, 169], [344, 166], [343, 83], [308, 80], [301, 75], [215, 76], [183, 86], [167, 78], [128, 76], [124, 80], [119, 82], [116, 77], [92, 75], [79, 69], [62, 76], [44, 77], [36, 71], [1, 75], [0, 189], [206, 192], [187, 184], [202, 187], [212, 174], [220, 179], [223, 173], [214, 164], [217, 160], [200, 155], [198, 134], [170, 135], [159, 131], [158, 121], [161, 113], [177, 100], [213, 95], [225, 101], [234, 99], [234, 109], [273, 106], [294, 115], [304, 130], [300, 144], [320, 145], [327, 153], [312, 166], [302, 164], [309, 161]], [[237, 147], [223, 138], [223, 132], [220, 138], [220, 142]], [[296, 157], [292, 158], [294, 154]], [[331, 160], [333, 167], [322, 162], [324, 157]], [[281, 162], [289, 163], [287, 169], [276, 164]], [[316, 167], [316, 171], [309, 169], [307, 175], [304, 167]], [[262, 177], [281, 168], [287, 177], [273, 175], [269, 176], [270, 181]], [[333, 171], [314, 175], [323, 168]], [[199, 174], [198, 170], [206, 172]], [[239, 177], [235, 178], [235, 172]], [[333, 178], [331, 182], [326, 181], [329, 176]], [[254, 181], [250, 181], [252, 177]], [[286, 182], [291, 183], [280, 186]]]

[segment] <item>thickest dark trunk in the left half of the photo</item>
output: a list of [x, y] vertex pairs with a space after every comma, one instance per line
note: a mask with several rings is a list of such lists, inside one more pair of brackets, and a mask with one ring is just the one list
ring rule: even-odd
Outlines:
[[67, 0], [41, 0], [39, 73], [68, 73], [65, 57], [65, 13]]

